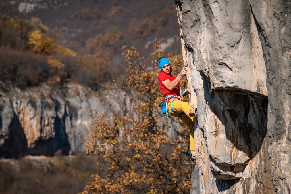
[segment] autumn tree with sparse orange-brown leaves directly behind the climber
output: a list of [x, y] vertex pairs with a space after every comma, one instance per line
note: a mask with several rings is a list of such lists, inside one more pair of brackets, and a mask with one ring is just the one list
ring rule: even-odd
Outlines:
[[[157, 81], [159, 42], [152, 52], [152, 71], [147, 71], [150, 65], [136, 48], [122, 49], [130, 88], [124, 92], [131, 98], [132, 110], [93, 115], [93, 127], [84, 141], [86, 154], [98, 158], [97, 166], [104, 173], [92, 175], [94, 180], [82, 193], [189, 193], [189, 130], [177, 118], [166, 120], [159, 108], [163, 101]], [[182, 66], [181, 55], [169, 53], [168, 59], [176, 74]], [[176, 128], [175, 122], [179, 123]], [[170, 127], [175, 136], [167, 135]]]

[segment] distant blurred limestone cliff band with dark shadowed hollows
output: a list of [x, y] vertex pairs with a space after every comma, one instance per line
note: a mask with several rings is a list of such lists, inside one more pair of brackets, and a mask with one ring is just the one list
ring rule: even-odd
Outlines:
[[[84, 151], [82, 140], [95, 110], [121, 113], [125, 105], [130, 112], [129, 98], [123, 91], [107, 91], [102, 96], [74, 84], [55, 91], [45, 86], [0, 91], [0, 157]], [[104, 104], [102, 98], [107, 96], [110, 103]]]

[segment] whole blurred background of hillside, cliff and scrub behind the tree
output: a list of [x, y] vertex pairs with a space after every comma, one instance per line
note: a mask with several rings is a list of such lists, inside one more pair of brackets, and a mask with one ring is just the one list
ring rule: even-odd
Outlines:
[[133, 112], [121, 48], [159, 73], [157, 41], [179, 55], [174, 1], [2, 0], [0, 193], [78, 193], [102, 174], [82, 143], [94, 110]]

